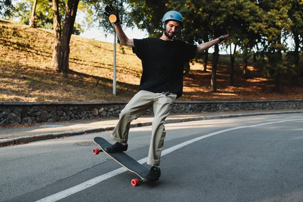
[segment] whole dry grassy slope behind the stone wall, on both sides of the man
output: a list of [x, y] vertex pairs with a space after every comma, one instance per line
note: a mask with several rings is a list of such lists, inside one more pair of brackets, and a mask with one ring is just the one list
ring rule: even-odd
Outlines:
[[[131, 48], [123, 46], [123, 54], [117, 45], [117, 96], [114, 96], [112, 43], [72, 35], [71, 73], [64, 75], [51, 67], [53, 38], [51, 31], [0, 20], [1, 101], [126, 101], [137, 92], [142, 68]], [[300, 86], [283, 85], [282, 93], [274, 92], [273, 81], [262, 78], [252, 66], [248, 67], [249, 79], [243, 79], [239, 61], [235, 64], [234, 86], [228, 86], [228, 56], [221, 55], [219, 60], [218, 92], [211, 92], [211, 63], [206, 73], [200, 63], [195, 63], [190, 75], [184, 78], [184, 94], [178, 100], [303, 98]]]

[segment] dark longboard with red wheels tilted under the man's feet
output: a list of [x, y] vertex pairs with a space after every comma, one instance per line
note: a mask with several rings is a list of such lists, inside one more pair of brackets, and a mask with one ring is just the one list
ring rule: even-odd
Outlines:
[[[132, 179], [131, 180], [131, 185], [136, 186], [140, 182], [147, 182], [147, 180], [145, 179], [145, 176], [149, 173], [149, 170], [147, 168], [145, 168], [144, 166], [139, 164], [136, 160], [134, 160], [133, 158], [131, 158], [130, 156], [128, 156], [124, 152], [107, 153], [104, 150], [104, 148], [106, 148], [108, 146], [111, 146], [112, 144], [110, 142], [108, 142], [107, 140], [105, 140], [104, 138], [95, 137], [93, 139], [93, 141], [101, 147], [102, 151], [105, 154], [110, 156], [113, 160], [118, 162], [121, 166], [126, 168], [128, 171], [130, 171], [132, 173], [135, 173], [136, 175], [138, 175], [140, 177], [140, 179]], [[99, 152], [100, 152], [100, 150], [98, 148], [94, 148], [92, 150], [92, 153], [94, 155], [99, 154]]]

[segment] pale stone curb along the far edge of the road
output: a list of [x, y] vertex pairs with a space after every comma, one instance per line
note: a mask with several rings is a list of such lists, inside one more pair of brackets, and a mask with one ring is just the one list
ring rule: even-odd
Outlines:
[[[181, 122], [190, 122], [190, 121], [225, 119], [225, 118], [235, 118], [235, 117], [245, 117], [245, 116], [295, 114], [295, 113], [303, 113], [303, 110], [280, 111], [280, 112], [255, 112], [255, 113], [230, 114], [230, 115], [188, 117], [188, 118], [182, 118], [182, 119], [167, 119], [166, 123], [181, 123]], [[141, 126], [150, 126], [152, 123], [153, 122], [151, 122], [151, 121], [133, 123], [130, 125], [130, 127], [134, 128], [134, 127], [141, 127]], [[1, 139], [0, 147], [14, 145], [14, 144], [27, 143], [27, 142], [32, 142], [32, 141], [45, 140], [45, 139], [54, 139], [54, 138], [61, 138], [61, 137], [66, 137], [66, 136], [83, 135], [83, 134], [97, 133], [97, 132], [103, 132], [103, 131], [112, 131], [112, 130], [114, 130], [114, 128], [115, 128], [114, 126], [105, 127], [105, 128], [88, 128], [88, 129], [82, 129], [82, 130], [72, 130], [72, 131], [65, 131], [65, 132], [16, 137], [16, 138], [12, 138], [12, 139]]]

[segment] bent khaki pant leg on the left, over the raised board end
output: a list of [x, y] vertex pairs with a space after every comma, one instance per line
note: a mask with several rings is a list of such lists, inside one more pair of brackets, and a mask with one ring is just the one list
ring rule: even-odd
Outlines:
[[145, 90], [136, 93], [121, 111], [111, 138], [120, 143], [127, 143], [130, 123], [153, 105], [154, 97], [155, 93]]

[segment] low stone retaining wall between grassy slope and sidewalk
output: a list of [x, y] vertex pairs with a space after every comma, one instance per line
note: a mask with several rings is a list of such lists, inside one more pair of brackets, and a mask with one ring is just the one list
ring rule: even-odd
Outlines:
[[[0, 125], [113, 118], [119, 117], [126, 104], [127, 102], [0, 102]], [[176, 102], [171, 114], [290, 109], [303, 109], [303, 100]], [[153, 109], [148, 109], [144, 115], [153, 115]]]

